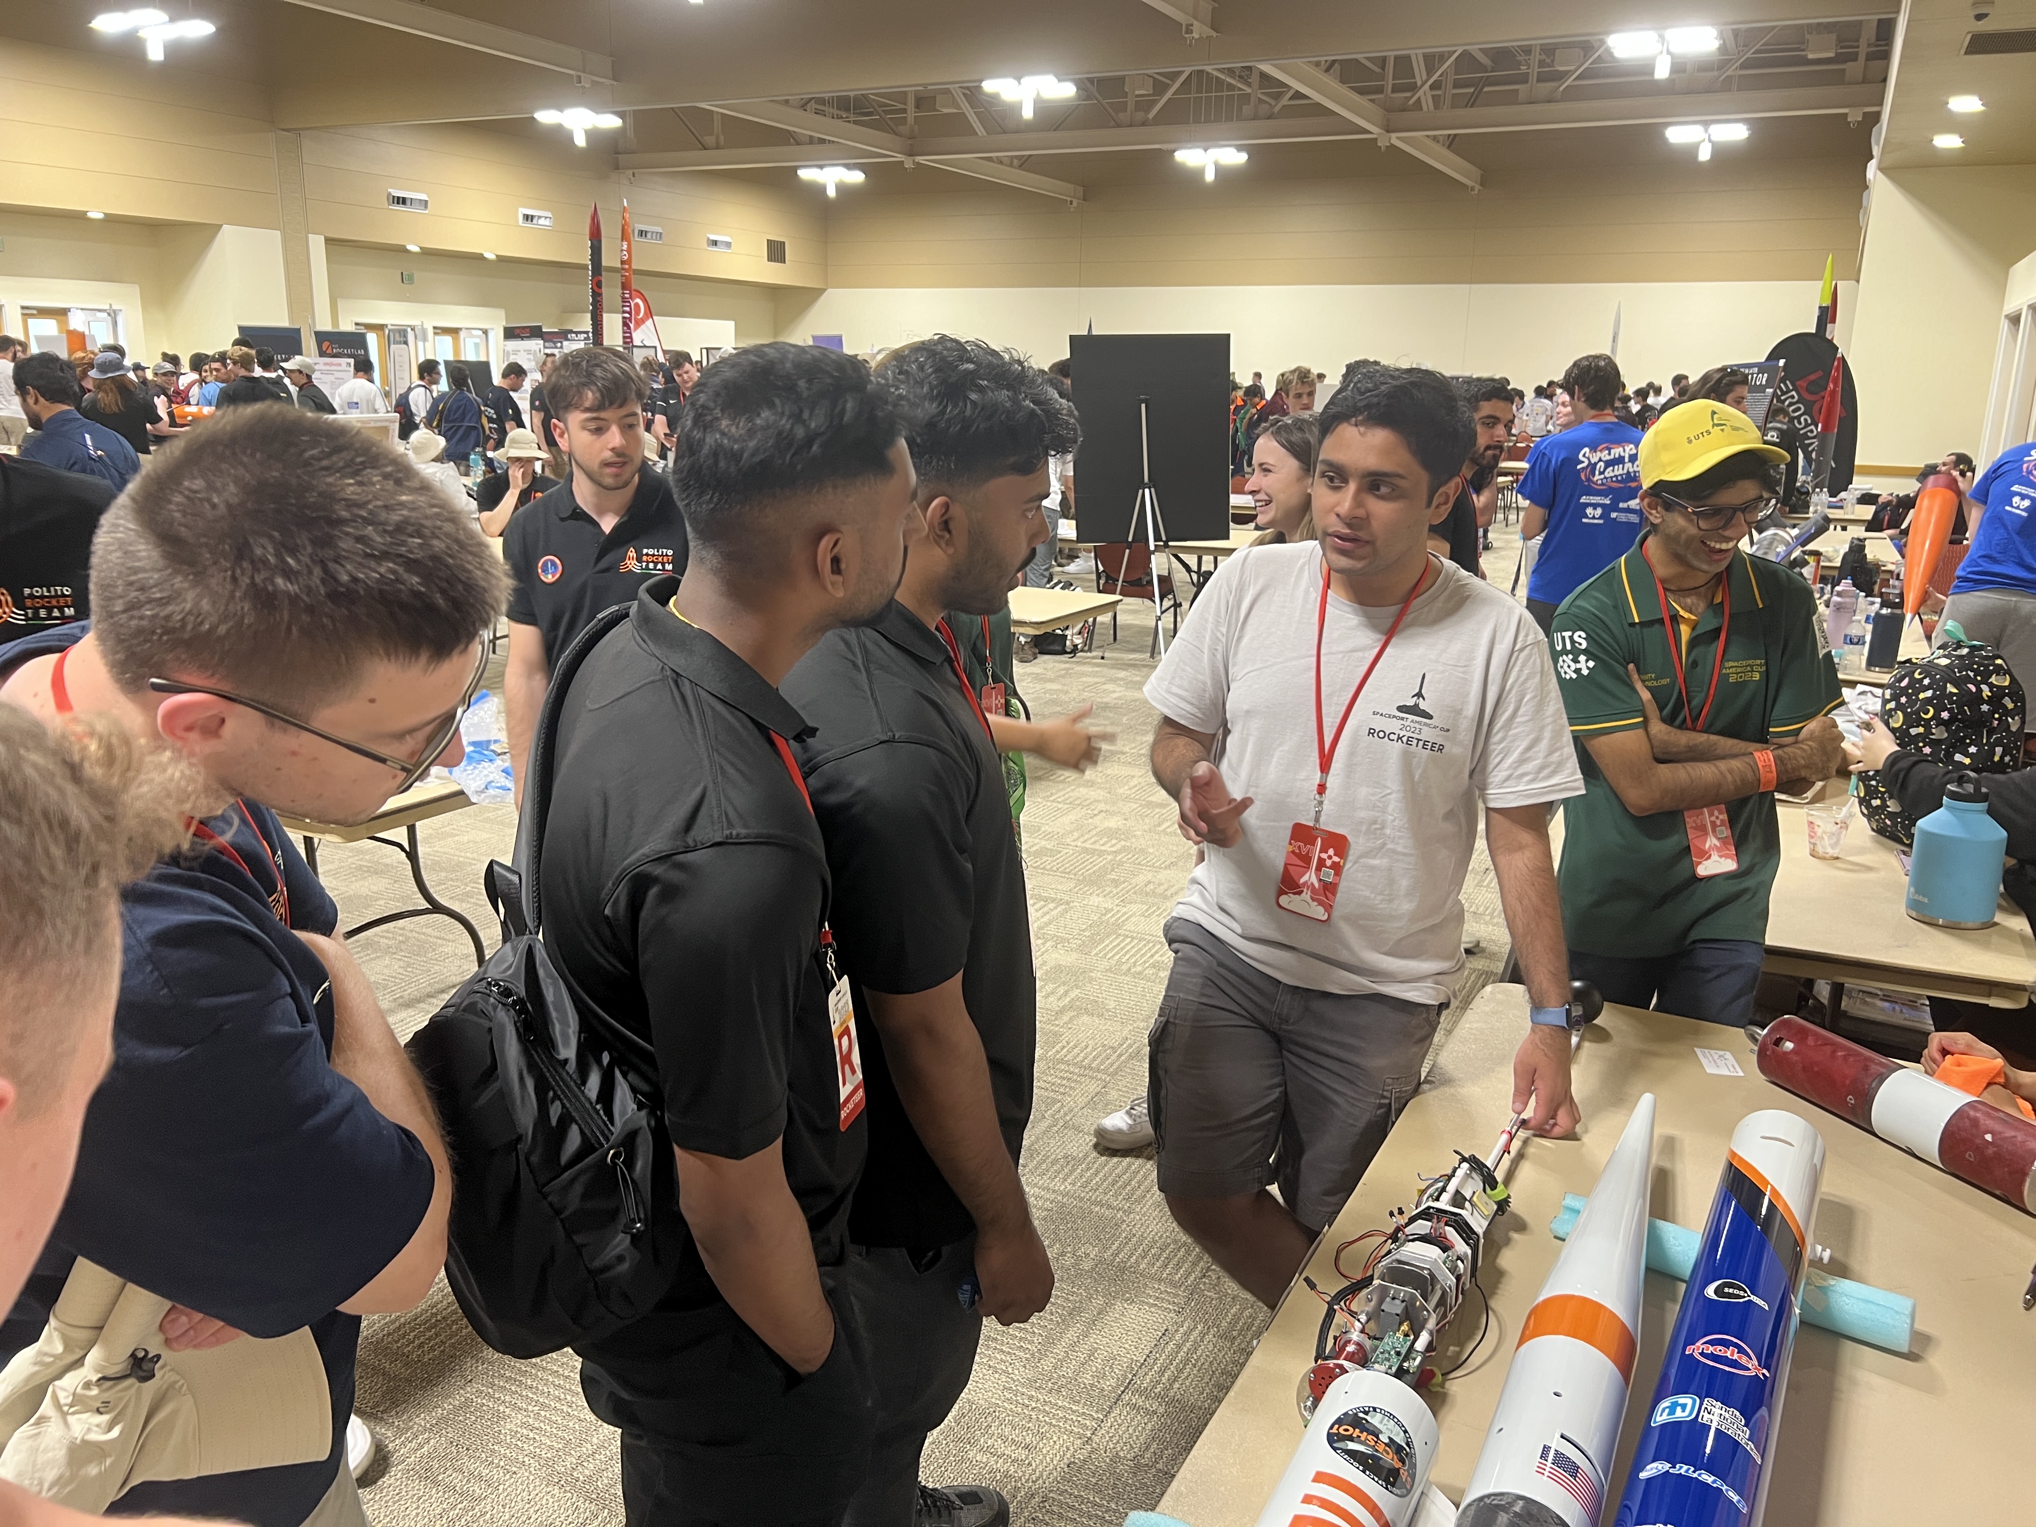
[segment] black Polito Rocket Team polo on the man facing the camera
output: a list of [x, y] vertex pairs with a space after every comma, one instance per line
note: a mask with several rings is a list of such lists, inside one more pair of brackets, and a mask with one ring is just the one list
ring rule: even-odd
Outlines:
[[686, 572], [686, 521], [672, 483], [637, 472], [629, 511], [603, 533], [572, 497], [572, 483], [517, 511], [503, 531], [509, 564], [509, 619], [544, 633], [544, 656], [558, 662], [572, 637], [609, 605], [627, 605], [652, 578]]

